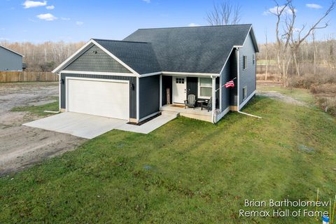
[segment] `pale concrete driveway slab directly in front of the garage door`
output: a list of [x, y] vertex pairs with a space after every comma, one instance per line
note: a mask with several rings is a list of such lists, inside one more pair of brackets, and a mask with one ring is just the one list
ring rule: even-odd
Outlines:
[[71, 134], [85, 139], [93, 139], [94, 137], [98, 137], [116, 127], [125, 125], [126, 123], [127, 120], [66, 112], [25, 123], [24, 125], [38, 127], [43, 130]]

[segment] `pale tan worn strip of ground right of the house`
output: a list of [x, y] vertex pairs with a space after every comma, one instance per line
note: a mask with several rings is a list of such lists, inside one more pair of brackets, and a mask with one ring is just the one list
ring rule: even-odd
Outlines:
[[309, 90], [298, 89], [298, 88], [286, 88], [281, 86], [258, 86], [258, 90], [260, 91], [276, 91], [280, 92], [289, 97], [293, 97], [298, 101], [305, 102], [307, 104], [314, 104], [314, 96], [309, 92]]

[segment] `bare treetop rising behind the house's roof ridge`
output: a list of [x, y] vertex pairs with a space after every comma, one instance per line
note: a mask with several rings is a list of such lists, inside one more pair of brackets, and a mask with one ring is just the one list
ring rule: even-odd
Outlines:
[[241, 6], [235, 6], [229, 0], [214, 2], [214, 8], [207, 13], [207, 22], [211, 26], [216, 25], [235, 25], [241, 19]]

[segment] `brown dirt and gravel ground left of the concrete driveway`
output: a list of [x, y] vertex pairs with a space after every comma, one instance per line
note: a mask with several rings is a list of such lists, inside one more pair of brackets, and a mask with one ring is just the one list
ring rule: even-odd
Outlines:
[[72, 150], [85, 141], [69, 134], [22, 126], [38, 117], [10, 111], [15, 106], [54, 102], [52, 97], [57, 95], [58, 83], [0, 83], [0, 176]]

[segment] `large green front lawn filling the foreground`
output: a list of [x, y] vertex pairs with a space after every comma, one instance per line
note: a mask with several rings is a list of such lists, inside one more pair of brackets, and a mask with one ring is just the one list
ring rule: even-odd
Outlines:
[[3, 177], [0, 223], [321, 223], [238, 212], [245, 199], [314, 200], [317, 188], [333, 198], [335, 118], [265, 97], [244, 111], [262, 119], [230, 113], [217, 125], [177, 118], [147, 135], [113, 130]]

